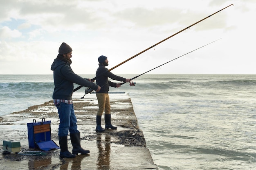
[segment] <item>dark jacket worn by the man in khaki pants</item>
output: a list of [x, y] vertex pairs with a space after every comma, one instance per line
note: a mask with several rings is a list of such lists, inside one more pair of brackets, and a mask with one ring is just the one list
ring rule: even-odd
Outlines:
[[116, 87], [117, 83], [109, 81], [108, 77], [117, 81], [126, 81], [126, 78], [116, 76], [115, 74], [109, 72], [104, 65], [99, 64], [99, 68], [96, 71], [96, 84], [101, 87], [101, 90], [96, 93], [108, 93], [109, 86]]

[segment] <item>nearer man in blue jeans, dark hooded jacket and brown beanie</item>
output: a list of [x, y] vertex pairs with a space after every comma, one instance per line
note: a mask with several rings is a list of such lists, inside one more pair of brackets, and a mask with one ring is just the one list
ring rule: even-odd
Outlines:
[[[58, 128], [58, 138], [61, 148], [60, 157], [74, 158], [78, 153], [88, 154], [90, 150], [81, 148], [80, 132], [77, 130], [77, 120], [74, 113], [72, 94], [74, 83], [90, 87], [98, 92], [101, 87], [92, 83], [90, 79], [82, 78], [75, 74], [70, 64], [72, 63], [72, 48], [66, 43], [62, 43], [58, 56], [52, 63], [51, 70], [54, 75], [54, 92], [52, 95], [54, 105], [58, 109], [60, 124]], [[72, 154], [67, 149], [67, 135], [70, 132], [70, 139], [73, 146]]]

